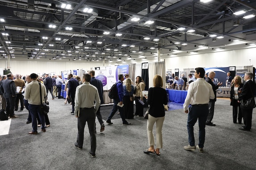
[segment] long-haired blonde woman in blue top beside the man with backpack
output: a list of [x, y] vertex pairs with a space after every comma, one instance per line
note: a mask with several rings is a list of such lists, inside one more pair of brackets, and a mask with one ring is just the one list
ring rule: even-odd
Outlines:
[[123, 85], [124, 90], [124, 98], [123, 98], [123, 104], [124, 104], [124, 111], [125, 111], [125, 117], [126, 119], [134, 119], [133, 115], [133, 91], [134, 86], [131, 85], [131, 79], [126, 78], [126, 85]]

